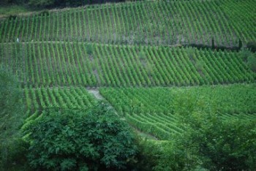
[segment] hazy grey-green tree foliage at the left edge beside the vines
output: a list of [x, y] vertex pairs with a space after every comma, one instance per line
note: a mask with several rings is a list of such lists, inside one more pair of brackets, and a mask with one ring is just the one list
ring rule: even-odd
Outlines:
[[0, 65], [0, 167], [10, 160], [11, 146], [23, 121], [22, 91], [7, 67]]

